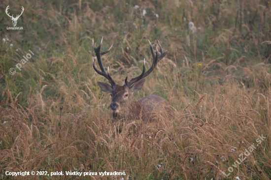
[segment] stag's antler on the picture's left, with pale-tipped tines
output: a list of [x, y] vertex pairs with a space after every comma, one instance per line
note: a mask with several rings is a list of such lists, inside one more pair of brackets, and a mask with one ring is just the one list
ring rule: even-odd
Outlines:
[[[102, 37], [102, 39], [103, 39], [103, 37]], [[106, 54], [106, 53], [108, 53], [108, 52], [110, 51], [110, 49], [112, 48], [113, 44], [110, 46], [110, 48], [109, 48], [108, 50], [106, 50], [106, 51], [104, 51], [104, 52], [102, 52], [102, 53], [100, 53], [100, 50], [101, 50], [101, 47], [102, 47], [102, 40], [101, 40], [100, 45], [96, 48], [96, 47], [95, 47], [95, 44], [94, 44], [94, 39], [92, 39], [92, 46], [93, 46], [93, 49], [94, 49], [94, 51], [95, 51], [95, 54], [96, 54], [96, 57], [97, 57], [97, 60], [98, 60], [98, 63], [99, 63], [99, 66], [100, 66], [100, 68], [101, 68], [102, 71], [99, 71], [99, 70], [95, 67], [95, 65], [94, 65], [94, 58], [92, 58], [92, 60], [93, 60], [93, 61], [92, 61], [92, 66], [93, 66], [94, 70], [95, 70], [98, 74], [100, 74], [100, 75], [102, 75], [103, 77], [105, 77], [105, 78], [109, 81], [109, 83], [111, 84], [111, 86], [114, 86], [116, 83], [115, 83], [115, 81], [111, 78], [111, 76], [109, 75], [109, 67], [108, 67], [108, 70], [107, 70], [107, 73], [106, 73], [106, 72], [105, 72], [105, 69], [104, 69], [104, 67], [103, 67], [103, 65], [102, 65], [102, 60], [101, 60], [101, 56], [104, 55], [104, 54]]]

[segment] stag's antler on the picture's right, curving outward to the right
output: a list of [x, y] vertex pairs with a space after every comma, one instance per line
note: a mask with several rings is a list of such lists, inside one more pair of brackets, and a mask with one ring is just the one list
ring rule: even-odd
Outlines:
[[143, 71], [142, 71], [142, 73], [139, 76], [131, 79], [128, 82], [127, 81], [128, 80], [128, 75], [127, 75], [127, 77], [125, 79], [125, 84], [128, 85], [129, 87], [131, 87], [135, 82], [137, 82], [137, 81], [145, 78], [146, 76], [148, 76], [153, 71], [153, 69], [155, 68], [155, 66], [157, 65], [158, 60], [162, 60], [166, 56], [166, 54], [167, 54], [168, 51], [163, 52], [163, 48], [162, 48], [161, 44], [159, 43], [158, 39], [156, 39], [156, 41], [157, 41], [158, 46], [160, 48], [161, 55], [158, 57], [158, 50], [157, 50], [156, 45], [155, 45], [156, 54], [154, 54], [154, 51], [153, 51], [153, 48], [152, 48], [152, 44], [149, 41], [149, 45], [150, 45], [150, 49], [151, 49], [151, 54], [152, 54], [152, 58], [153, 58], [152, 66], [150, 67], [150, 69], [147, 72], [145, 72], [145, 60], [144, 60]]

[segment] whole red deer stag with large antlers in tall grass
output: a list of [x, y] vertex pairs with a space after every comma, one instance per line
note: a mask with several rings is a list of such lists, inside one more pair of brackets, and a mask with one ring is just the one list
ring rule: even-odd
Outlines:
[[102, 71], [99, 71], [95, 65], [94, 65], [94, 58], [93, 58], [93, 68], [94, 70], [105, 77], [110, 85], [106, 83], [98, 82], [98, 85], [100, 86], [101, 90], [103, 92], [109, 92], [111, 94], [112, 103], [110, 104], [110, 108], [113, 113], [114, 119], [132, 119], [135, 118], [137, 120], [141, 119], [144, 122], [153, 122], [157, 121], [159, 117], [163, 118], [170, 118], [171, 117], [171, 109], [169, 107], [169, 103], [162, 97], [158, 95], [148, 95], [144, 98], [141, 98], [139, 101], [134, 102], [133, 101], [133, 92], [140, 90], [145, 82], [146, 76], [148, 76], [155, 68], [155, 66], [158, 63], [158, 60], [162, 60], [164, 56], [167, 54], [166, 52], [163, 52], [163, 49], [159, 43], [158, 40], [156, 40], [161, 55], [158, 57], [158, 50], [156, 47], [156, 53], [154, 53], [154, 50], [152, 48], [152, 45], [150, 44], [151, 54], [153, 57], [153, 63], [151, 68], [145, 72], [145, 60], [143, 65], [143, 71], [142, 73], [128, 81], [128, 75], [125, 79], [125, 85], [119, 86], [115, 83], [115, 81], [112, 79], [112, 77], [109, 75], [109, 70], [107, 73], [104, 70], [104, 67], [102, 65], [101, 56], [108, 53], [110, 49], [112, 48], [113, 44], [110, 46], [110, 48], [102, 53], [100, 53], [102, 41], [100, 45], [96, 48], [94, 44], [94, 40], [92, 40], [92, 45], [94, 48], [94, 51], [96, 53], [96, 57], [99, 63], [99, 66]]

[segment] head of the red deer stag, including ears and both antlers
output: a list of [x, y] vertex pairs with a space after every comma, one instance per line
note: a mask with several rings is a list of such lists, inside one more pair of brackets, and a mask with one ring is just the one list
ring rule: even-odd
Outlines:
[[125, 85], [120, 86], [120, 85], [117, 85], [115, 83], [115, 81], [111, 78], [111, 76], [109, 75], [109, 67], [107, 69], [107, 73], [105, 72], [103, 65], [102, 65], [102, 60], [101, 60], [101, 56], [108, 53], [110, 51], [110, 49], [112, 48], [113, 44], [110, 46], [110, 48], [108, 50], [100, 53], [102, 41], [101, 41], [100, 45], [96, 48], [95, 44], [94, 44], [94, 40], [92, 40], [92, 45], [93, 45], [94, 51], [96, 53], [96, 57], [97, 57], [99, 66], [102, 71], [99, 71], [95, 67], [94, 58], [92, 59], [93, 60], [93, 63], [92, 63], [93, 68], [98, 74], [105, 77], [108, 80], [108, 82], [110, 83], [110, 85], [108, 85], [106, 83], [98, 82], [98, 85], [102, 91], [109, 92], [111, 94], [112, 103], [110, 104], [110, 108], [113, 112], [113, 116], [115, 116], [117, 114], [126, 113], [127, 108], [131, 108], [131, 104], [133, 103], [133, 98], [132, 98], [133, 92], [140, 90], [143, 87], [144, 82], [145, 82], [145, 79], [143, 79], [143, 78], [148, 76], [153, 71], [155, 66], [157, 65], [158, 60], [162, 60], [164, 58], [164, 56], [167, 54], [167, 51], [163, 52], [163, 49], [162, 49], [159, 41], [158, 40], [156, 40], [156, 41], [159, 45], [161, 55], [158, 57], [158, 50], [157, 50], [156, 46], [155, 46], [156, 53], [154, 53], [152, 44], [149, 41], [151, 54], [153, 57], [153, 63], [152, 63], [152, 66], [150, 67], [150, 69], [147, 72], [145, 72], [145, 60], [144, 60], [142, 73], [139, 76], [131, 79], [130, 81], [128, 81], [128, 76], [129, 76], [129, 73], [128, 73], [127, 77], [125, 79]]

